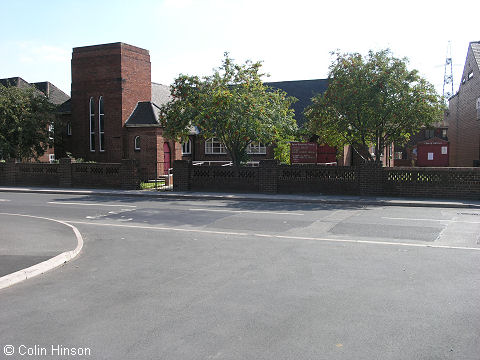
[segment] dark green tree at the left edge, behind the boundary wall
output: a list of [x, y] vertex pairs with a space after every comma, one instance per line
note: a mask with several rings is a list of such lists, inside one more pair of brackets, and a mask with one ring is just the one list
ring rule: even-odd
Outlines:
[[37, 159], [53, 145], [54, 105], [33, 88], [0, 85], [0, 159]]

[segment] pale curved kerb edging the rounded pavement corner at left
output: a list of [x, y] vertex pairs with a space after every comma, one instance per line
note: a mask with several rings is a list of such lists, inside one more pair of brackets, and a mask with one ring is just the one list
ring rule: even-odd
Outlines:
[[36, 265], [30, 266], [26, 269], [22, 269], [14, 273], [0, 277], [0, 289], [12, 286], [14, 284], [17, 284], [27, 279], [31, 279], [32, 277], [38, 276], [60, 265], [63, 265], [68, 261], [72, 260], [73, 258], [75, 258], [83, 248], [82, 234], [80, 234], [80, 231], [78, 231], [78, 229], [75, 226], [65, 221], [50, 219], [50, 218], [45, 218], [40, 216], [24, 215], [24, 214], [0, 213], [0, 215], [21, 216], [21, 217], [28, 217], [32, 219], [54, 221], [71, 228], [73, 233], [75, 234], [75, 237], [77, 238], [77, 247], [75, 249], [70, 251], [65, 251], [51, 259], [48, 259]]

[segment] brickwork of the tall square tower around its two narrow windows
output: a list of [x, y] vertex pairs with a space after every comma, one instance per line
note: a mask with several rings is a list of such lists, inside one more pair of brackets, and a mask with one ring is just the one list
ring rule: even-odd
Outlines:
[[[74, 48], [72, 54], [72, 139], [75, 157], [118, 162], [123, 125], [138, 101], [151, 100], [151, 66], [147, 50], [123, 43]], [[105, 142], [100, 152], [98, 101], [104, 99]], [[95, 151], [90, 151], [89, 99], [94, 98]]]

